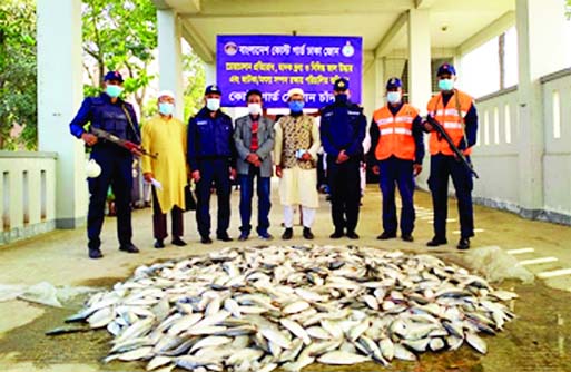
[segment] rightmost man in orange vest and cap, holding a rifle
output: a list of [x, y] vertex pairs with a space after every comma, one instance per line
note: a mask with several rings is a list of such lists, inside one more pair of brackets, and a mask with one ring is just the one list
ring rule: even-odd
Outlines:
[[[440, 94], [429, 102], [429, 115], [435, 118], [446, 130], [451, 139], [470, 161], [472, 146], [476, 141], [478, 114], [472, 97], [454, 88], [456, 71], [450, 63], [439, 68], [437, 79]], [[431, 131], [431, 174], [429, 187], [432, 193], [434, 208], [434, 237], [429, 246], [446, 244], [446, 217], [449, 176], [456, 190], [457, 209], [460, 215], [459, 249], [470, 248], [470, 238], [474, 236], [474, 217], [472, 209], [473, 179], [471, 172], [455, 158], [449, 144], [441, 138], [434, 128], [425, 123], [425, 129]]]

